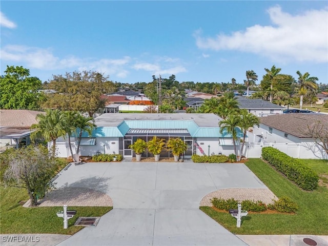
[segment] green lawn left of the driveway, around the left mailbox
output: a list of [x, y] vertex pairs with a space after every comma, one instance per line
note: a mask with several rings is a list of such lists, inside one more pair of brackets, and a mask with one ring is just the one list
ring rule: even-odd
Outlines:
[[78, 217], [100, 217], [112, 210], [112, 207], [68, 207], [76, 210], [76, 215], [68, 220], [68, 229], [64, 229], [63, 218], [56, 213], [63, 207], [24, 208], [18, 204], [28, 200], [25, 189], [5, 188], [1, 192], [1, 234], [50, 233], [73, 235], [84, 227], [74, 227]]

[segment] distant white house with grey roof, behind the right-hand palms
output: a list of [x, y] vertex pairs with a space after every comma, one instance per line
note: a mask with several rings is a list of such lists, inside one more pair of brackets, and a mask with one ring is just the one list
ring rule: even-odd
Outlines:
[[271, 114], [281, 114], [285, 109], [277, 104], [262, 99], [250, 99], [243, 96], [236, 96], [240, 109], [246, 109], [256, 116], [267, 116]]

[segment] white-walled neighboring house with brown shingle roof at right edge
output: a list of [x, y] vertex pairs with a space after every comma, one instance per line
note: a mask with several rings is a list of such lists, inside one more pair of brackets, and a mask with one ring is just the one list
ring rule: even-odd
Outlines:
[[254, 127], [253, 134], [262, 136], [263, 142], [295, 158], [328, 159], [326, 152], [316, 142], [302, 133], [308, 126], [320, 121], [328, 126], [328, 115], [324, 114], [281, 114], [260, 118], [259, 127]]

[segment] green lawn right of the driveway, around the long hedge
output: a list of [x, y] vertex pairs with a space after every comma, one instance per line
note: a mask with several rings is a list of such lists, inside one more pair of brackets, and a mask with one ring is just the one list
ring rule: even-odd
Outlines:
[[[328, 172], [327, 161], [304, 160], [319, 175]], [[261, 159], [249, 159], [245, 163], [252, 172], [278, 197], [289, 196], [298, 204], [295, 214], [248, 214], [242, 217], [241, 228], [229, 213], [221, 213], [210, 207], [200, 209], [235, 234], [314, 234], [328, 232], [328, 189], [319, 187], [309, 192], [298, 188], [290, 180], [275, 171]]]

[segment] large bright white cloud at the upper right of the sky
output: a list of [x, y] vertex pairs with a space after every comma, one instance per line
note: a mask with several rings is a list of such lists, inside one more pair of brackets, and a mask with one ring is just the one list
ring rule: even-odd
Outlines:
[[231, 35], [202, 37], [194, 32], [200, 49], [239, 50], [274, 61], [328, 61], [328, 10], [309, 10], [301, 15], [281, 11], [279, 6], [268, 9], [272, 26], [255, 25]]

